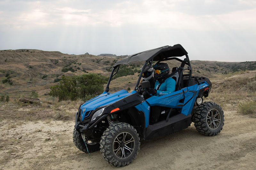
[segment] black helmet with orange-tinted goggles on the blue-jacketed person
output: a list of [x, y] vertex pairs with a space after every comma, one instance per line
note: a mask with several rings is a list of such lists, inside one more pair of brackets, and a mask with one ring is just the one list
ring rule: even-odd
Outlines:
[[155, 76], [154, 78], [158, 81], [164, 81], [165, 78], [169, 75], [170, 69], [167, 63], [156, 63], [154, 66]]

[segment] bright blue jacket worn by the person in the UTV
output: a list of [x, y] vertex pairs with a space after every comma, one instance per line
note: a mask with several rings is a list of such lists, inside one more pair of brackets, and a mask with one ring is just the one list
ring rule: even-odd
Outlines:
[[156, 83], [155, 83], [156, 96], [162, 96], [162, 95], [174, 92], [176, 87], [176, 81], [173, 78], [169, 77], [164, 81], [164, 83], [160, 85], [160, 87], [159, 85], [160, 85], [159, 81], [156, 80]]

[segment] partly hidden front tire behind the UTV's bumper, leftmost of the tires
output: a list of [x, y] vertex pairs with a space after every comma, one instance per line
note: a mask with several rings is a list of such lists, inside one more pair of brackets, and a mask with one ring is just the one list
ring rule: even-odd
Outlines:
[[[78, 133], [78, 131], [76, 130], [76, 128], [74, 128], [73, 131], [73, 142], [75, 143], [76, 147], [80, 150], [83, 151], [85, 153], [87, 152], [86, 146], [84, 144], [84, 140], [82, 138], [82, 135]], [[95, 152], [95, 151], [99, 151], [100, 150], [100, 144], [97, 143], [92, 143], [92, 144], [86, 144], [89, 153], [91, 152]]]

